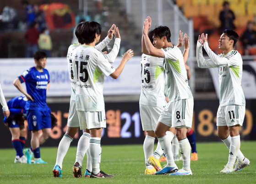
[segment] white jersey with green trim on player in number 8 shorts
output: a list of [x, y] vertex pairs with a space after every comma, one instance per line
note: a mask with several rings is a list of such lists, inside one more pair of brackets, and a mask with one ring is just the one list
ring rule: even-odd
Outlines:
[[176, 46], [171, 46], [161, 50], [164, 53], [169, 101], [193, 98], [188, 85], [184, 58], [180, 49]]

